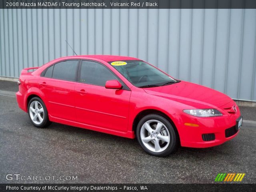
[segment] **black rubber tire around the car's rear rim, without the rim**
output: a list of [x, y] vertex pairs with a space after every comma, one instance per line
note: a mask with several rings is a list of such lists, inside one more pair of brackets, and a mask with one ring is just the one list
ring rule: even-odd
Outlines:
[[[34, 123], [33, 120], [32, 120], [31, 117], [30, 117], [30, 104], [31, 104], [32, 102], [34, 102], [34, 101], [39, 102], [40, 105], [42, 106], [42, 108], [44, 109], [44, 117], [43, 117], [43, 120], [42, 120], [42, 122], [41, 122], [40, 124]], [[46, 128], [46, 127], [48, 127], [48, 126], [52, 123], [52, 122], [50, 122], [50, 120], [49, 120], [48, 111], [47, 111], [47, 109], [46, 109], [46, 106], [45, 106], [44, 102], [42, 101], [42, 99], [40, 99], [39, 97], [33, 97], [33, 98], [30, 99], [30, 101], [28, 102], [28, 116], [29, 116], [29, 119], [30, 119], [30, 121], [32, 122], [32, 124], [33, 124], [35, 127], [37, 127], [37, 128]]]

